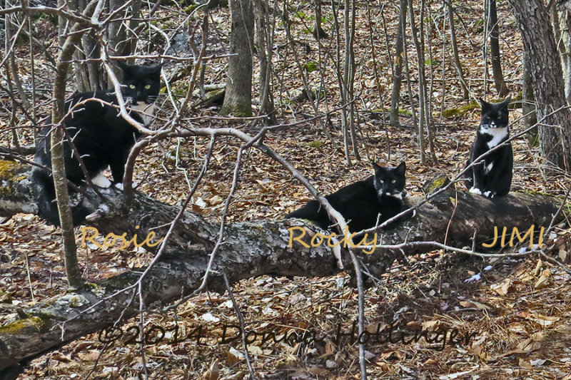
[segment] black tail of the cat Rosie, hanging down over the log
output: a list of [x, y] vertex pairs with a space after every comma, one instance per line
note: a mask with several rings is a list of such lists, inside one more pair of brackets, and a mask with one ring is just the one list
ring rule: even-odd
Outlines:
[[[36, 205], [39, 208], [39, 215], [44, 217], [50, 225], [60, 226], [54, 180], [44, 170], [33, 168], [31, 171], [31, 185]], [[74, 222], [74, 227], [81, 224], [89, 214], [90, 210], [81, 204], [74, 207], [71, 210], [71, 219]]]

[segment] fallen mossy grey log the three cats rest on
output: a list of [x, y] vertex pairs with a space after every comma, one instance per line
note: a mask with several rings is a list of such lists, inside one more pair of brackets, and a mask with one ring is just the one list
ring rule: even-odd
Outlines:
[[[26, 166], [0, 161], [0, 215], [37, 212], [28, 172]], [[126, 237], [131, 239], [135, 234], [146, 236], [152, 230], [161, 237], [179, 211], [177, 207], [138, 192], [126, 210], [121, 191], [109, 188], [103, 190], [103, 194], [106, 202], [93, 195], [88, 203], [99, 216], [89, 225], [104, 234], [126, 232]], [[423, 197], [407, 198], [410, 205], [419, 205], [422, 201]], [[510, 193], [487, 199], [450, 188], [420, 205], [412, 220], [394, 230], [378, 232], [378, 242], [385, 246], [377, 247], [370, 254], [358, 252], [358, 256], [370, 272], [378, 275], [397, 257], [433, 250], [434, 245], [426, 242], [472, 247], [474, 240], [477, 250], [481, 250], [482, 243], [487, 244], [495, 237], [495, 227], [496, 231], [505, 227], [510, 233], [515, 228], [527, 232], [532, 226], [540, 230], [549, 225], [556, 211], [557, 202], [547, 195]], [[293, 240], [297, 236], [293, 232], [297, 234], [300, 230], [292, 227], [303, 227], [306, 235]], [[216, 223], [185, 212], [174, 227], [161, 260], [142, 281], [144, 306], [156, 308], [198, 289], [218, 233]], [[303, 220], [236, 222], [226, 226], [224, 244], [218, 245], [213, 260], [208, 289], [224, 291], [222, 273], [236, 282], [261, 274], [321, 277], [340, 272], [331, 247], [325, 243], [311, 246], [310, 237], [316, 234], [327, 235]], [[358, 240], [360, 238], [355, 238]], [[342, 259], [348, 267], [350, 259], [346, 250], [342, 251]], [[20, 311], [16, 319], [0, 327], [0, 374], [16, 373], [19, 366], [46, 351], [97, 332], [116, 322], [119, 316], [125, 320], [136, 314], [138, 297], [133, 298], [136, 288], [131, 285], [138, 281], [140, 272], [141, 269], [124, 272], [98, 284], [96, 291], [86, 288], [61, 294]]]

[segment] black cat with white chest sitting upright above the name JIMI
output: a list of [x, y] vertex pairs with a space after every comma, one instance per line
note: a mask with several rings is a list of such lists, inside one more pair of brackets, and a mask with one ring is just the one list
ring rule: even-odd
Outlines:
[[[511, 98], [507, 98], [502, 103], [480, 101], [482, 120], [466, 166], [473, 163], [478, 156], [510, 138], [510, 128], [507, 125], [507, 105], [510, 101]], [[466, 171], [465, 175], [468, 177], [465, 182], [466, 188], [473, 194], [490, 198], [496, 195], [506, 195], [510, 192], [512, 185], [512, 168], [512, 145], [507, 143]]]

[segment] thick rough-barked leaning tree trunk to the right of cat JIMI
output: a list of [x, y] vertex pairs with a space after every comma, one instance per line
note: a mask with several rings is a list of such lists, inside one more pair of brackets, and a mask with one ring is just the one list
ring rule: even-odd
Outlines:
[[542, 0], [510, 0], [510, 4], [530, 60], [542, 158], [570, 172], [571, 113], [564, 109], [563, 73], [549, 14]]

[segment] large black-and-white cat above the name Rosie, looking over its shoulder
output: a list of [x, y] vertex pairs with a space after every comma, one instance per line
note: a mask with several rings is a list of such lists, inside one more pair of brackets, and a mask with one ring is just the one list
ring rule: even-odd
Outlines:
[[[161, 87], [162, 64], [137, 66], [119, 61], [118, 66], [123, 71], [121, 93], [127, 106], [135, 110], [130, 112], [131, 117], [139, 123], [148, 124], [153, 115], [153, 102], [156, 101]], [[102, 174], [103, 170], [110, 167], [113, 183], [121, 187], [128, 154], [141, 133], [119, 115], [118, 108], [103, 105], [97, 99], [117, 104], [113, 90], [72, 96], [66, 101], [66, 112], [77, 103], [84, 103], [74, 108], [72, 113], [64, 119], [64, 125], [94, 185], [101, 188], [108, 188], [111, 185], [111, 182]], [[52, 126], [48, 125], [41, 130], [36, 142], [34, 157], [35, 163], [48, 168], [51, 168], [51, 151], [49, 150], [51, 128]], [[81, 185], [85, 180], [84, 172], [69, 143], [64, 143], [64, 160], [66, 177], [75, 185]], [[40, 215], [49, 224], [60, 225], [51, 173], [34, 167], [31, 171], [31, 183]], [[72, 210], [74, 226], [79, 225], [87, 215], [89, 215], [89, 210], [85, 207], [81, 205], [74, 207]]]

